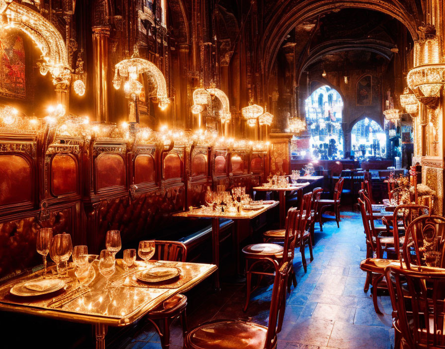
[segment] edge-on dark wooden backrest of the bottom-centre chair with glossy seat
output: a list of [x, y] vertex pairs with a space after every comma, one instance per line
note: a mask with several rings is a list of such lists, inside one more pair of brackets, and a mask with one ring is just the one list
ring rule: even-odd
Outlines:
[[277, 346], [277, 332], [281, 331], [286, 308], [286, 279], [292, 266], [291, 263], [286, 262], [279, 267], [276, 261], [273, 259], [269, 260], [275, 267], [275, 279], [272, 290], [272, 301], [270, 303], [265, 349], [272, 349]]

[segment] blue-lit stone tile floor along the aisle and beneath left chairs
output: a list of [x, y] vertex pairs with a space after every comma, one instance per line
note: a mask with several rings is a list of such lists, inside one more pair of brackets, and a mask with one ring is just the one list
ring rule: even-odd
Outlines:
[[[318, 227], [318, 224], [316, 225]], [[342, 212], [340, 229], [335, 221], [315, 230], [314, 260], [307, 273], [296, 251], [294, 266], [298, 285], [288, 295], [285, 323], [278, 334], [278, 349], [388, 349], [390, 348], [391, 304], [389, 296], [378, 298], [384, 315], [374, 312], [370, 291], [365, 293], [365, 273], [359, 264], [365, 258], [366, 242], [361, 217]], [[272, 280], [268, 280], [269, 284]], [[242, 311], [245, 286], [223, 283], [222, 291], [210, 291], [210, 283], [189, 295], [189, 327], [223, 318], [252, 318], [267, 325], [272, 285], [253, 296], [247, 312]], [[120, 349], [160, 349], [159, 337], [148, 322], [120, 341]], [[171, 349], [182, 348], [182, 332], [174, 323]]]

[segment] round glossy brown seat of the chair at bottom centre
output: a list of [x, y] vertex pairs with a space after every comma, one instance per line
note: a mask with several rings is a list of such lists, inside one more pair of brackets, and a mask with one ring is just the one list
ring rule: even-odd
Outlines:
[[242, 320], [218, 320], [190, 331], [185, 342], [187, 348], [193, 349], [264, 349], [266, 335], [265, 326]]

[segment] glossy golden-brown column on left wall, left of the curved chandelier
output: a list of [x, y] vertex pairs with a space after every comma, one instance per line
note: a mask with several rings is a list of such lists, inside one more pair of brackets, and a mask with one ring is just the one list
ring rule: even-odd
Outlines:
[[108, 45], [110, 27], [93, 27], [94, 112], [97, 121], [109, 121], [108, 113]]

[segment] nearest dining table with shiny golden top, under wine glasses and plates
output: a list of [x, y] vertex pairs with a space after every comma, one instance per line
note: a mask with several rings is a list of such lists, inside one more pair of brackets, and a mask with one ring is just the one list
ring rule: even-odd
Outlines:
[[[116, 259], [116, 271], [107, 282], [98, 270], [98, 263], [97, 259], [91, 261], [94, 272], [89, 283], [83, 285], [79, 284], [73, 265], [63, 278], [58, 277], [56, 268], [50, 268], [49, 279], [62, 280], [65, 286], [37, 296], [25, 296], [22, 289], [29, 282], [40, 282], [42, 270], [29, 270], [7, 280], [0, 285], [0, 310], [91, 324], [95, 331], [96, 349], [104, 349], [108, 326], [134, 323], [165, 300], [190, 290], [218, 269], [213, 264], [150, 260], [136, 261], [127, 270], [122, 259]], [[139, 272], [155, 266], [177, 268], [180, 274], [172, 280], [152, 284], [137, 278]]]

